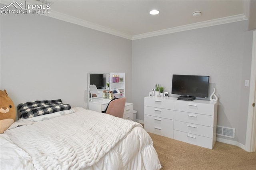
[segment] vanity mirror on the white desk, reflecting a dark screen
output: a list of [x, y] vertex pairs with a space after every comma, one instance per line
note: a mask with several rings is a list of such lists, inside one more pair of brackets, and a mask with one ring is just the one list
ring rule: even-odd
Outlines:
[[[102, 93], [106, 89], [109, 77], [110, 73], [88, 73], [88, 99], [92, 101], [92, 99], [102, 98]], [[90, 95], [90, 85], [95, 85], [97, 89], [97, 91], [91, 91], [92, 95]]]

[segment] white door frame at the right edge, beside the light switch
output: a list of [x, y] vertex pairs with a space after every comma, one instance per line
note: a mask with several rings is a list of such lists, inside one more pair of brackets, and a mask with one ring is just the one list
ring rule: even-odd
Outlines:
[[245, 150], [248, 152], [256, 152], [256, 107], [252, 107], [252, 103], [256, 102], [256, 30], [253, 31], [252, 38], [252, 66], [250, 77], [250, 92], [247, 117], [247, 130]]

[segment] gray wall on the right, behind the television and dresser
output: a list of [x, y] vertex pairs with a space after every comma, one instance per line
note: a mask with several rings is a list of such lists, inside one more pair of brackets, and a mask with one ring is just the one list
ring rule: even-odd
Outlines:
[[144, 120], [144, 97], [156, 83], [170, 94], [172, 74], [209, 75], [209, 96], [215, 87], [219, 97], [217, 125], [236, 128], [234, 140], [245, 144], [249, 87], [244, 87], [244, 81], [250, 79], [252, 58], [252, 32], [246, 32], [247, 24], [132, 41], [132, 101], [137, 119]]

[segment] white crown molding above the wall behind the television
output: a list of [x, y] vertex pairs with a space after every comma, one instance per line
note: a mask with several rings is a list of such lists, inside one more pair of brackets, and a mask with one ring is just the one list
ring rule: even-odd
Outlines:
[[208, 20], [208, 21], [204, 21], [204, 22], [188, 24], [185, 26], [168, 28], [165, 30], [154, 31], [154, 32], [149, 32], [149, 33], [145, 33], [145, 34], [139, 34], [136, 36], [132, 36], [132, 40], [138, 40], [138, 39], [142, 39], [142, 38], [149, 38], [149, 37], [160, 36], [160, 35], [164, 35], [164, 34], [171, 34], [171, 33], [175, 33], [175, 32], [193, 30], [193, 29], [197, 29], [197, 28], [216, 26], [216, 25], [220, 25], [220, 24], [227, 24], [227, 23], [238, 22], [238, 21], [243, 21], [243, 20], [248, 20], [248, 18], [246, 18], [246, 16], [244, 14], [240, 14], [240, 15], [235, 15], [235, 16], [219, 18], [219, 19], [215, 19], [215, 20]]

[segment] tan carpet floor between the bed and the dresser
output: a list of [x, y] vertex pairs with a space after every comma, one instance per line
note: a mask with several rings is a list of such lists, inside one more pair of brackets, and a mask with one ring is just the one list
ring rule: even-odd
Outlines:
[[161, 170], [256, 170], [256, 152], [216, 142], [208, 149], [157, 134], [150, 134]]

